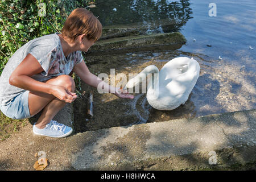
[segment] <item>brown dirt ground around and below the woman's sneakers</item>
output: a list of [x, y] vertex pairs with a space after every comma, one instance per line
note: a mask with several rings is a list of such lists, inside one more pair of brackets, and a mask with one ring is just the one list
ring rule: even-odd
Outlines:
[[46, 152], [49, 161], [44, 170], [67, 168], [69, 159], [65, 155], [65, 145], [68, 138], [36, 136], [32, 132], [31, 123], [27, 121], [26, 124], [18, 132], [11, 134], [10, 138], [0, 142], [0, 170], [35, 170], [34, 163], [40, 157], [36, 158], [35, 154], [39, 151]]

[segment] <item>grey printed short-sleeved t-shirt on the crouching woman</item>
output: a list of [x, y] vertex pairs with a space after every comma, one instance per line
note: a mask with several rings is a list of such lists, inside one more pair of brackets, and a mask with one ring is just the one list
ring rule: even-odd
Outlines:
[[7, 105], [15, 96], [26, 90], [9, 84], [9, 78], [14, 69], [23, 61], [30, 53], [38, 60], [43, 72], [31, 76], [38, 81], [46, 81], [52, 77], [59, 75], [69, 75], [73, 67], [80, 63], [83, 58], [81, 51], [70, 53], [67, 57], [64, 56], [61, 47], [59, 33], [45, 35], [20, 47], [13, 56], [9, 59], [0, 77], [0, 104]]

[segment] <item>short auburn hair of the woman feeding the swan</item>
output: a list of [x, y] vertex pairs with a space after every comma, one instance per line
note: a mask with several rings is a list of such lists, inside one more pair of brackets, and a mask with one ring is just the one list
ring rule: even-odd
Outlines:
[[78, 8], [71, 12], [64, 26], [61, 34], [75, 42], [77, 36], [85, 34], [88, 40], [96, 42], [100, 39], [102, 33], [102, 24], [93, 13], [84, 8]]

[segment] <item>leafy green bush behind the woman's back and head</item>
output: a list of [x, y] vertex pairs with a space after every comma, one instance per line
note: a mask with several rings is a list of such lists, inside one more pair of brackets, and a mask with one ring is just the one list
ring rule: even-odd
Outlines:
[[60, 32], [73, 9], [87, 1], [2, 0], [0, 2], [0, 75], [13, 53], [39, 36]]

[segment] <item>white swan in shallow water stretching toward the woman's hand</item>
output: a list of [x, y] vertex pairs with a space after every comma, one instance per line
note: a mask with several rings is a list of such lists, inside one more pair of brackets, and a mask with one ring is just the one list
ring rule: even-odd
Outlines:
[[152, 77], [147, 81], [147, 101], [155, 109], [172, 110], [188, 100], [199, 78], [199, 72], [200, 65], [193, 57], [176, 57], [168, 61], [160, 72], [154, 65], [144, 68], [127, 82], [124, 89], [133, 88], [146, 81], [148, 73], [156, 73], [150, 74]]

